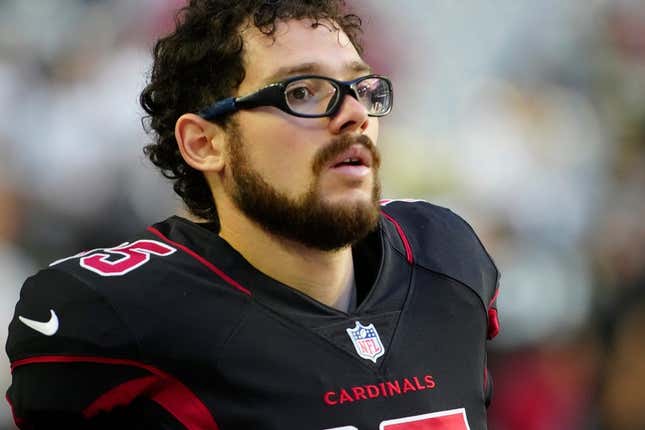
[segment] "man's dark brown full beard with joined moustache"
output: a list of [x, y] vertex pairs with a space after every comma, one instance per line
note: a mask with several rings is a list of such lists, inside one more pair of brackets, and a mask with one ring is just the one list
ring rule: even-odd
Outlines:
[[[307, 247], [332, 251], [353, 245], [375, 230], [379, 220], [380, 154], [367, 136], [341, 135], [322, 147], [312, 162], [313, 181], [297, 198], [269, 184], [255, 170], [244, 151], [245, 142], [235, 123], [229, 125], [231, 180], [226, 192], [237, 207], [265, 231]], [[326, 202], [321, 193], [323, 168], [352, 145], [360, 144], [372, 154], [371, 199], [351, 203]]]

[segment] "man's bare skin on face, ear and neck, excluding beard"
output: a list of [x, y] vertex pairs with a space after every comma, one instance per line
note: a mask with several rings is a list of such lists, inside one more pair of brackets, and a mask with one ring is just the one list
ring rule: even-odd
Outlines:
[[[279, 22], [275, 40], [249, 26], [242, 30], [246, 76], [238, 95], [301, 74], [350, 80], [369, 73], [345, 33], [330, 23], [312, 27], [311, 20]], [[279, 61], [277, 61], [279, 59]], [[331, 118], [298, 118], [276, 108], [262, 107], [235, 114], [250, 165], [276, 189], [298, 198], [314, 181], [312, 160], [320, 148], [341, 134], [365, 134], [378, 139], [378, 120], [345, 97]], [[266, 232], [246, 217], [226, 191], [231, 180], [226, 131], [193, 114], [176, 124], [175, 135], [189, 165], [204, 172], [217, 204], [220, 236], [253, 266], [314, 299], [337, 307], [353, 284], [350, 246], [321, 251]], [[327, 204], [368, 204], [374, 172], [362, 177], [324, 169], [319, 178]]]

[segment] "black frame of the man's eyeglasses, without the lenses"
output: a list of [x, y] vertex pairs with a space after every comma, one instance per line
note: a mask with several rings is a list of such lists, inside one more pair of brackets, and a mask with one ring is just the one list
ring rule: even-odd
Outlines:
[[[334, 96], [334, 99], [329, 103], [327, 111], [325, 111], [322, 114], [303, 114], [303, 113], [295, 112], [287, 104], [287, 100], [285, 96], [285, 90], [287, 89], [287, 86], [291, 82], [299, 81], [301, 79], [311, 79], [311, 78], [324, 79], [330, 82], [336, 88], [336, 94]], [[383, 113], [371, 114], [368, 112], [368, 115], [376, 116], [376, 117], [385, 116], [392, 111], [392, 102], [393, 102], [393, 96], [394, 96], [394, 93], [392, 90], [392, 82], [385, 76], [374, 75], [374, 74], [361, 76], [360, 78], [356, 78], [351, 81], [338, 81], [333, 78], [329, 78], [326, 76], [319, 76], [319, 75], [294, 76], [292, 78], [288, 78], [283, 81], [275, 82], [273, 84], [267, 85], [266, 87], [261, 88], [258, 91], [248, 94], [246, 96], [228, 97], [226, 99], [216, 101], [209, 107], [199, 111], [198, 115], [206, 120], [213, 120], [217, 117], [228, 115], [242, 109], [253, 109], [261, 106], [272, 106], [290, 115], [301, 117], [301, 118], [322, 118], [327, 116], [333, 116], [340, 108], [342, 104], [342, 100], [344, 100], [345, 96], [349, 95], [354, 97], [356, 100], [359, 100], [358, 94], [356, 93], [357, 85], [362, 81], [366, 79], [371, 79], [371, 78], [378, 78], [385, 81], [389, 91], [390, 105], [388, 106], [388, 109]]]

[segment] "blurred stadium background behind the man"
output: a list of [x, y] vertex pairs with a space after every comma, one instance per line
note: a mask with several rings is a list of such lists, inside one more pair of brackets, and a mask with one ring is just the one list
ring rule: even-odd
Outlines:
[[[0, 0], [2, 344], [37, 268], [182, 211], [137, 104], [182, 3]], [[384, 197], [460, 213], [503, 273], [490, 428], [645, 429], [645, 2], [349, 3], [395, 85]]]

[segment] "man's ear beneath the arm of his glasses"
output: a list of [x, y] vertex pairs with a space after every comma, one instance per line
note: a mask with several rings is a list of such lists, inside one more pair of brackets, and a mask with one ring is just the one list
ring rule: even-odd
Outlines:
[[202, 172], [224, 168], [224, 130], [199, 115], [186, 113], [175, 123], [175, 139], [186, 163]]

